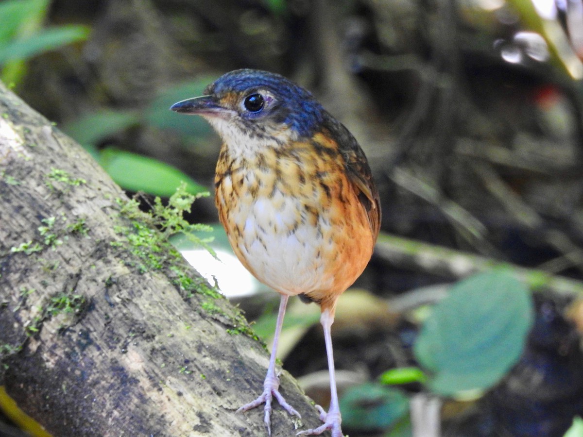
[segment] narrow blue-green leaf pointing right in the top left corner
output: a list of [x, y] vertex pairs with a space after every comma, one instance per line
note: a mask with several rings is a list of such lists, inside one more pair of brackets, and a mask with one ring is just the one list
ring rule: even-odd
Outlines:
[[59, 26], [38, 31], [0, 45], [0, 64], [16, 59], [27, 59], [39, 53], [55, 50], [62, 45], [85, 40], [89, 28], [85, 26]]

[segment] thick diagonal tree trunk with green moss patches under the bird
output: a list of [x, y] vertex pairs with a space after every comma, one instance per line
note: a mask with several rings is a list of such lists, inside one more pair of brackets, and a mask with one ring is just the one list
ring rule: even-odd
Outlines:
[[[58, 436], [265, 435], [268, 354], [92, 158], [0, 84], [0, 385]], [[283, 372], [275, 436], [315, 427]]]

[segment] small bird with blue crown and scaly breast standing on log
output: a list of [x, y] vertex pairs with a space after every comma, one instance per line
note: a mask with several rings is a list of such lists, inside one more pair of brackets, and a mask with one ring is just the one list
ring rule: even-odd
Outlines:
[[364, 151], [310, 91], [277, 73], [239, 69], [220, 76], [201, 97], [171, 106], [200, 115], [222, 138], [215, 203], [237, 258], [280, 294], [264, 391], [237, 412], [264, 406], [271, 435], [279, 392], [276, 351], [289, 297], [321, 308], [331, 402], [316, 406], [324, 422], [297, 435], [342, 437], [331, 327], [336, 302], [367, 266], [381, 223], [378, 190]]

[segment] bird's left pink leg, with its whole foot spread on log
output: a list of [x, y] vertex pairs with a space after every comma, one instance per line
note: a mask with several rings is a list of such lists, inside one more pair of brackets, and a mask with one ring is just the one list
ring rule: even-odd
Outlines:
[[279, 334], [282, 332], [282, 325], [283, 325], [283, 316], [286, 313], [286, 305], [287, 299], [289, 298], [288, 295], [282, 294], [282, 298], [279, 301], [279, 313], [278, 313], [278, 321], [275, 324], [275, 334], [273, 336], [273, 347], [271, 349], [271, 357], [269, 358], [269, 367], [267, 368], [267, 375], [265, 375], [265, 381], [263, 383], [263, 393], [254, 401], [245, 404], [243, 407], [237, 410], [237, 413], [241, 411], [251, 410], [251, 408], [255, 408], [260, 406], [261, 404], [265, 404], [264, 411], [265, 411], [265, 427], [267, 428], [267, 434], [271, 435], [271, 401], [273, 396], [275, 399], [278, 400], [279, 404], [287, 411], [289, 414], [297, 415], [300, 417], [300, 413], [298, 413], [290, 404], [286, 402], [283, 396], [279, 393], [279, 378], [278, 375], [275, 374], [275, 357], [278, 351], [278, 341], [279, 341]]

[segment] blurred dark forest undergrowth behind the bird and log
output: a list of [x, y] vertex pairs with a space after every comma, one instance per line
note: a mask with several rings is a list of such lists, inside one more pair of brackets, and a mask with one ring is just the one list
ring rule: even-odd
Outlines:
[[[351, 436], [583, 435], [582, 59], [583, 0], [0, 1], [2, 81], [145, 209], [212, 193], [218, 136], [168, 107], [233, 69], [290, 77], [359, 140], [382, 235], [333, 327]], [[268, 341], [278, 295], [212, 196], [188, 220], [220, 261], [177, 246]], [[315, 305], [280, 357], [325, 405]]]

